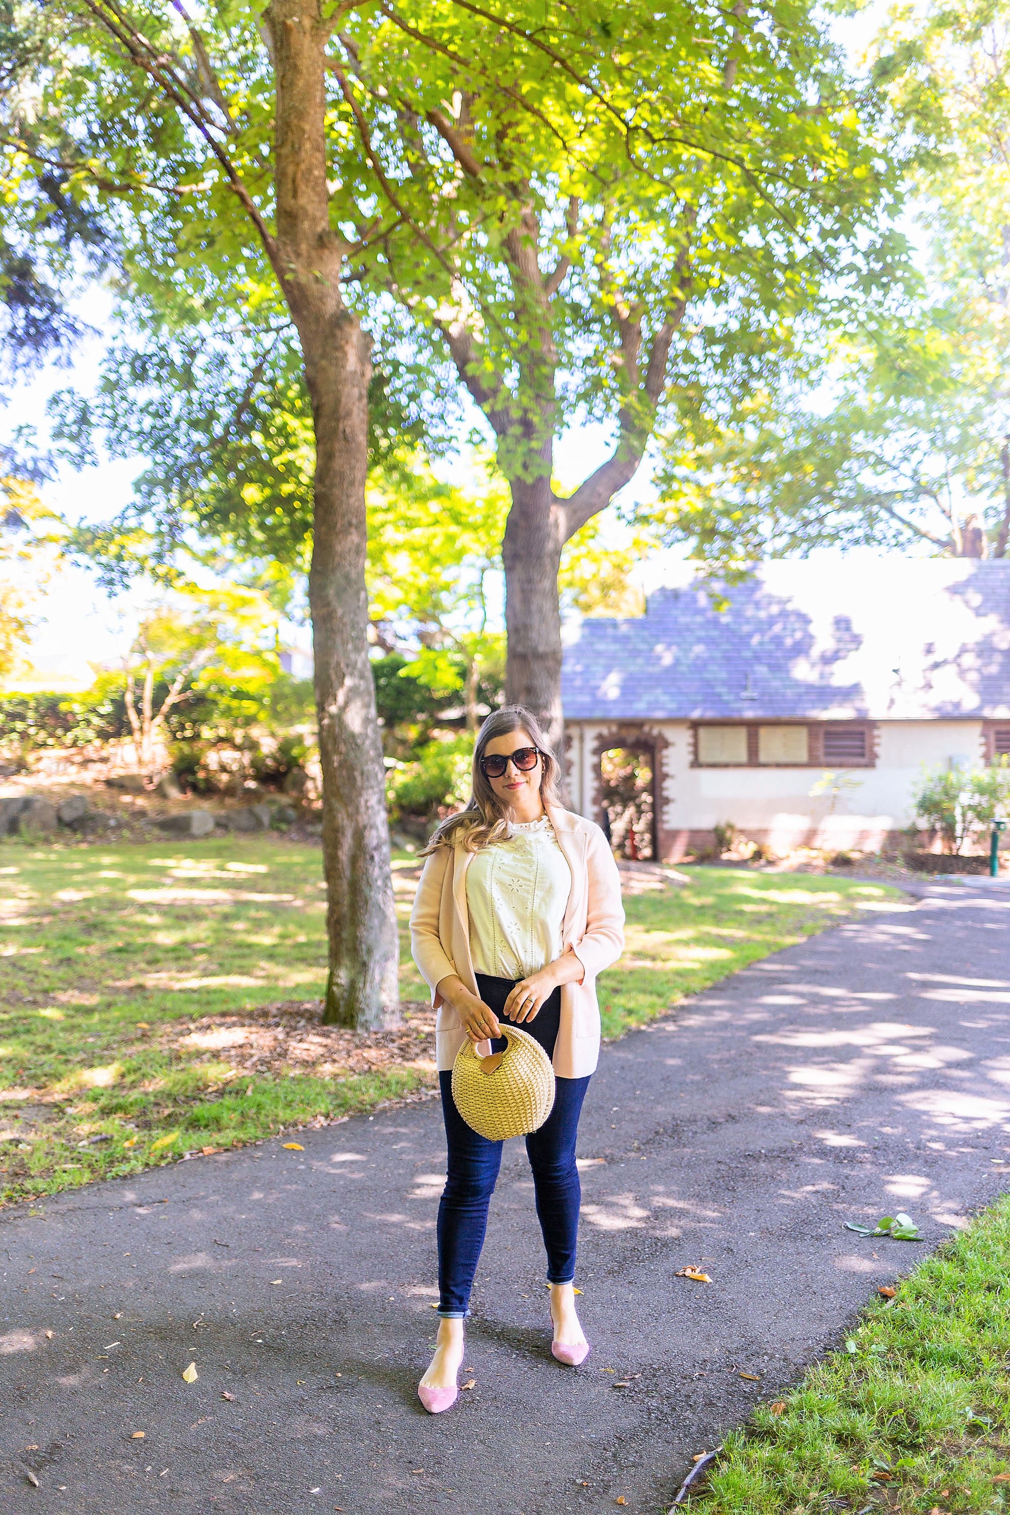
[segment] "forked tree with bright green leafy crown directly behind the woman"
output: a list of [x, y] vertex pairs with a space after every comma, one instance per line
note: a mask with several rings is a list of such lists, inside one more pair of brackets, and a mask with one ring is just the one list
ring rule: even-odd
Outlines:
[[[485, 55], [453, 6], [380, 6], [333, 64], [369, 174], [345, 186], [406, 235], [363, 273], [409, 309], [483, 411], [510, 485], [507, 682], [562, 733], [562, 550], [630, 483], [657, 423], [753, 388], [798, 318], [901, 262], [884, 102], [813, 8], [545, 8], [495, 15]], [[391, 83], [391, 59], [418, 61]], [[544, 67], [562, 82], [541, 95]], [[535, 108], [530, 109], [530, 102]], [[442, 153], [432, 152], [441, 138]], [[379, 214], [379, 212], [377, 212]], [[559, 433], [601, 423], [571, 492]]]

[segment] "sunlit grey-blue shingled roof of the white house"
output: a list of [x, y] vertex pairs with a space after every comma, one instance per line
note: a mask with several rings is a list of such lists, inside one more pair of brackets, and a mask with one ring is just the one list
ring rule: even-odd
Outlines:
[[566, 720], [1010, 718], [1010, 561], [765, 564], [566, 629]]

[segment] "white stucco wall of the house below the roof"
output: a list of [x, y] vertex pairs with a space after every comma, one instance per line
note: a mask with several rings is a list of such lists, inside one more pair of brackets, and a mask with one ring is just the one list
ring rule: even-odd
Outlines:
[[[686, 721], [650, 721], [666, 742], [662, 774], [662, 821], [669, 832], [707, 830], [731, 821], [760, 832], [771, 847], [798, 842], [824, 847], [875, 847], [887, 832], [912, 821], [910, 795], [924, 767], [977, 762], [983, 753], [981, 721], [881, 721], [877, 767], [846, 771], [853, 786], [834, 800], [812, 795], [824, 768], [692, 768]], [[591, 814], [595, 747], [609, 727], [578, 723], [572, 735], [572, 807]], [[575, 748], [578, 762], [575, 764]], [[595, 817], [594, 817], [595, 818]]]

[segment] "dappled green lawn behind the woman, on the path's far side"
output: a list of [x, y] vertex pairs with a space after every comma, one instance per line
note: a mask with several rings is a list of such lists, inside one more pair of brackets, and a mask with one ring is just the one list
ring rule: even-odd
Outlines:
[[[416, 862], [400, 854], [394, 868], [401, 994], [418, 1001], [407, 1017], [421, 1045], [427, 991], [406, 944]], [[631, 886], [639, 885], [627, 900], [625, 957], [601, 979], [607, 1036], [859, 907], [899, 900], [881, 885], [724, 868], [690, 870], [684, 885], [634, 879]], [[274, 1056], [265, 1071], [244, 1071], [229, 1038], [241, 1041], [256, 1029], [257, 1007], [274, 1003], [288, 1007], [274, 1023], [285, 1014], [312, 1021], [312, 1004], [297, 1006], [323, 994], [324, 962], [318, 847], [271, 836], [88, 847], [6, 841], [0, 1201], [430, 1088], [430, 1050], [397, 1057], [395, 1039], [348, 1033], [316, 1038], [326, 1041], [318, 1065], [309, 1047], [298, 1059]], [[214, 1017], [226, 1024], [207, 1023]], [[362, 1071], [350, 1044], [371, 1048], [376, 1067], [365, 1057]]]

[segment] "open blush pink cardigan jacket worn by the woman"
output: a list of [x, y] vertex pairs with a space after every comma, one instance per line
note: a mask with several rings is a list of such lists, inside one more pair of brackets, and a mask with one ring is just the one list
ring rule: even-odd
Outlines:
[[[595, 1071], [600, 1057], [597, 974], [616, 962], [624, 950], [621, 876], [598, 826], [553, 806], [548, 815], [572, 874], [562, 948], [571, 948], [583, 965], [580, 983], [562, 985], [554, 1073], [560, 1079], [584, 1079]], [[438, 1011], [435, 1044], [439, 1071], [453, 1067], [466, 1032], [456, 1011], [442, 1000], [438, 985], [456, 974], [471, 994], [477, 994], [466, 912], [466, 868], [472, 859], [474, 853], [459, 845], [433, 851], [424, 864], [410, 912], [410, 950]]]

